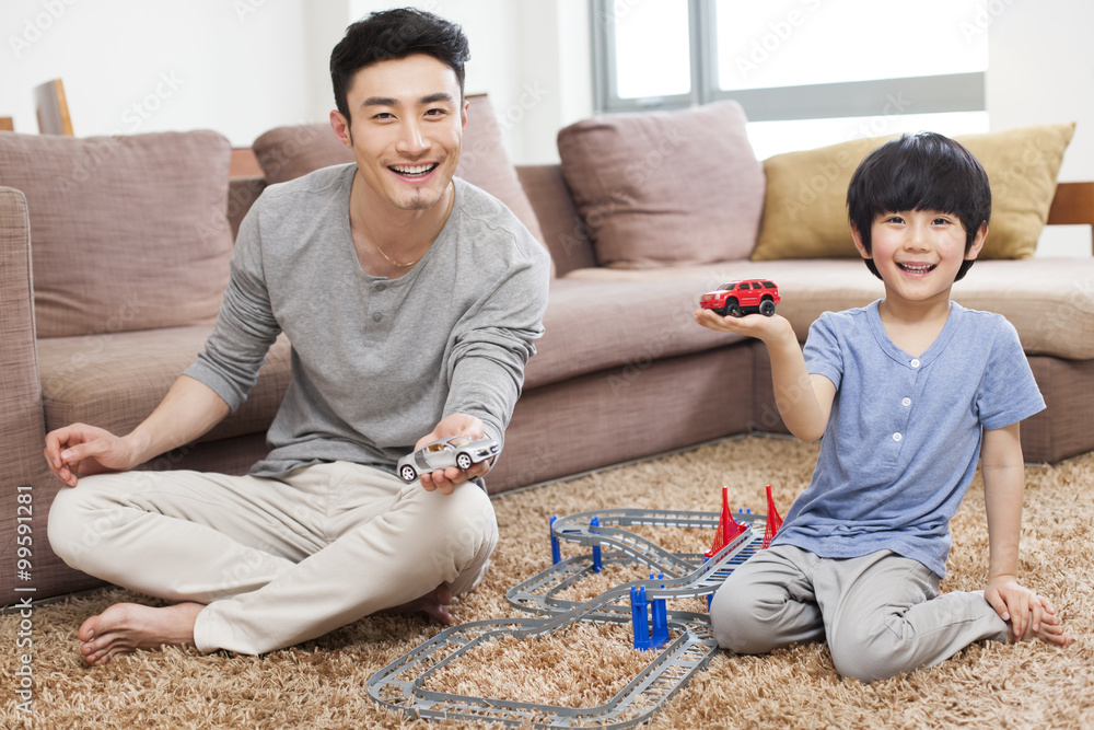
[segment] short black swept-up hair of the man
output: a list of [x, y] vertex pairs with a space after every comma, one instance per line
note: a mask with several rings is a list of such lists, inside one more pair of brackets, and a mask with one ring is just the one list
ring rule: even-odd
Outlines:
[[400, 8], [372, 13], [357, 21], [330, 53], [330, 81], [335, 105], [350, 120], [346, 94], [354, 74], [365, 66], [426, 54], [456, 73], [459, 102], [464, 101], [464, 63], [470, 57], [463, 30], [433, 13], [415, 8]]

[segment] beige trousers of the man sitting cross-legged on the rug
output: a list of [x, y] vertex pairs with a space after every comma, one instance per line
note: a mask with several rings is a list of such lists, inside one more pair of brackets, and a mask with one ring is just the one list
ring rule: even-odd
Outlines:
[[207, 604], [201, 651], [263, 653], [322, 636], [439, 584], [473, 589], [498, 541], [489, 497], [359, 464], [283, 477], [128, 472], [80, 479], [49, 512], [69, 566], [170, 601]]

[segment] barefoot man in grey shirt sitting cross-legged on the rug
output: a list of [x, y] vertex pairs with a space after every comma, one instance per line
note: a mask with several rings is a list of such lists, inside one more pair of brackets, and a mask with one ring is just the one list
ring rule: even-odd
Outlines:
[[[131, 433], [46, 436], [49, 515], [69, 565], [176, 601], [80, 627], [92, 664], [164, 645], [261, 653], [382, 610], [451, 622], [497, 542], [489, 464], [405, 485], [395, 462], [463, 434], [501, 441], [543, 333], [548, 257], [500, 202], [453, 177], [467, 39], [414, 10], [351, 25], [330, 123], [356, 163], [267, 189], [244, 221], [217, 326]], [[292, 380], [246, 476], [128, 470], [246, 398], [280, 333]]]

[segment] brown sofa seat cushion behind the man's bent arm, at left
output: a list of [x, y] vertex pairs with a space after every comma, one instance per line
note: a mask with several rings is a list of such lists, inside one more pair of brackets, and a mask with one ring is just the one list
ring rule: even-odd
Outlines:
[[[128, 433], [194, 362], [211, 331], [195, 325], [38, 340], [46, 430], [80, 421]], [[289, 386], [289, 370], [282, 335], [246, 403], [200, 440], [265, 432]]]

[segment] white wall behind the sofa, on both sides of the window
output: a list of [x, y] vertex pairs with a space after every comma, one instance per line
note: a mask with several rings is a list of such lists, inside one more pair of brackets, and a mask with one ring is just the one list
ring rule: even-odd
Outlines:
[[[321, 121], [330, 48], [391, 0], [4, 0], [0, 116], [34, 134], [32, 90], [65, 81], [77, 135], [211, 128], [249, 146]], [[589, 0], [422, 0], [472, 45], [467, 91], [488, 92], [514, 162], [557, 160], [555, 135], [592, 114]], [[1074, 119], [1062, 179], [1094, 179], [1094, 2], [982, 0], [993, 129]]]

